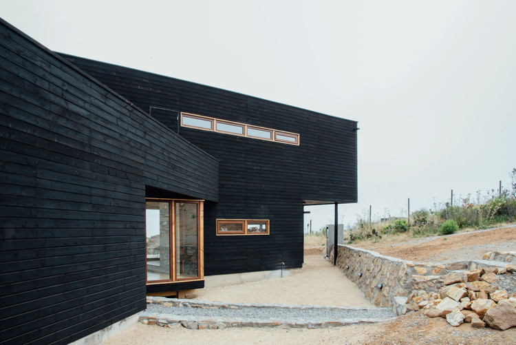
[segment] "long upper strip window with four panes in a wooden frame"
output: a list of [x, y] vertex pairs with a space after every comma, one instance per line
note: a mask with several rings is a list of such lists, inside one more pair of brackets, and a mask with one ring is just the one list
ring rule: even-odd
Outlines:
[[299, 145], [299, 134], [280, 131], [278, 129], [246, 125], [234, 121], [220, 120], [209, 116], [190, 113], [181, 113], [181, 126], [203, 131], [246, 136], [259, 140], [274, 141], [276, 143]]

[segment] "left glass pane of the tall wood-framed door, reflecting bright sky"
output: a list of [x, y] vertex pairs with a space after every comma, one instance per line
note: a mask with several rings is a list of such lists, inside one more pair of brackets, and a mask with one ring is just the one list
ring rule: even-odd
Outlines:
[[169, 202], [146, 202], [147, 281], [170, 278]]

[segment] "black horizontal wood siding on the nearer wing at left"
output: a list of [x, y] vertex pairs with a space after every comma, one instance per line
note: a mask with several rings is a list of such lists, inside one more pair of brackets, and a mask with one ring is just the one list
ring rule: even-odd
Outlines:
[[218, 163], [0, 21], [0, 343], [145, 308], [145, 194], [217, 201]]

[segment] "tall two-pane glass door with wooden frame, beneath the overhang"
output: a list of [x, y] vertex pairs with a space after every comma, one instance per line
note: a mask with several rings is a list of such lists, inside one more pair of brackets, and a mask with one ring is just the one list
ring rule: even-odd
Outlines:
[[202, 201], [147, 199], [147, 282], [202, 279]]

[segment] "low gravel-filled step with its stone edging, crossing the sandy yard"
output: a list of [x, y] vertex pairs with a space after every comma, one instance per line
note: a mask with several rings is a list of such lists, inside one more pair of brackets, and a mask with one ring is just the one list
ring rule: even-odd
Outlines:
[[396, 317], [387, 308], [222, 303], [148, 297], [143, 324], [171, 328], [280, 327], [326, 328], [383, 322]]

